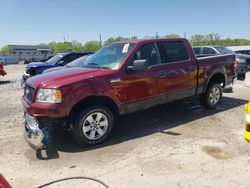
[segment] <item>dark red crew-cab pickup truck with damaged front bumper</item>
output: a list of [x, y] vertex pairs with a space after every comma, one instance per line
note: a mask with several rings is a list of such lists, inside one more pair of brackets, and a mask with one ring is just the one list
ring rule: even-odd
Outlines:
[[69, 125], [79, 144], [110, 134], [115, 117], [199, 95], [215, 108], [235, 76], [235, 55], [196, 58], [186, 39], [143, 39], [103, 47], [82, 68], [27, 80], [22, 103], [25, 135], [35, 148], [55, 124]]

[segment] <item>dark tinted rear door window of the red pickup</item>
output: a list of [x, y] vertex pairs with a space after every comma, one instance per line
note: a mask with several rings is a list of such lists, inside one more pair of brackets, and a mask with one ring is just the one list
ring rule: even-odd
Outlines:
[[182, 41], [158, 43], [162, 63], [186, 61], [189, 59], [187, 49]]

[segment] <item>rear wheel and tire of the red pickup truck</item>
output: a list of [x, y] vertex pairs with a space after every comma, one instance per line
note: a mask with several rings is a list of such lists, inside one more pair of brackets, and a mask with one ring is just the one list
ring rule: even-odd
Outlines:
[[201, 105], [207, 109], [214, 109], [218, 106], [222, 97], [222, 88], [218, 83], [208, 86], [206, 92], [200, 95]]

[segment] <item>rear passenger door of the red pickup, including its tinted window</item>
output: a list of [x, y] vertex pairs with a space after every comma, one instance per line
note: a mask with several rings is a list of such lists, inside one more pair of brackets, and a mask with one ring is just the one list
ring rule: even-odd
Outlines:
[[168, 101], [195, 95], [197, 86], [197, 64], [189, 56], [188, 44], [183, 41], [164, 41], [158, 43], [161, 61], [165, 64], [166, 79], [164, 94]]

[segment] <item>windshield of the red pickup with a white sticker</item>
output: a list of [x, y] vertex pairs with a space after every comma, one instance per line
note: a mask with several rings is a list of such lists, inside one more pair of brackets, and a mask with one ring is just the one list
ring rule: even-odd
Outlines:
[[84, 67], [117, 69], [133, 47], [133, 43], [116, 43], [105, 46], [91, 55], [85, 61]]

